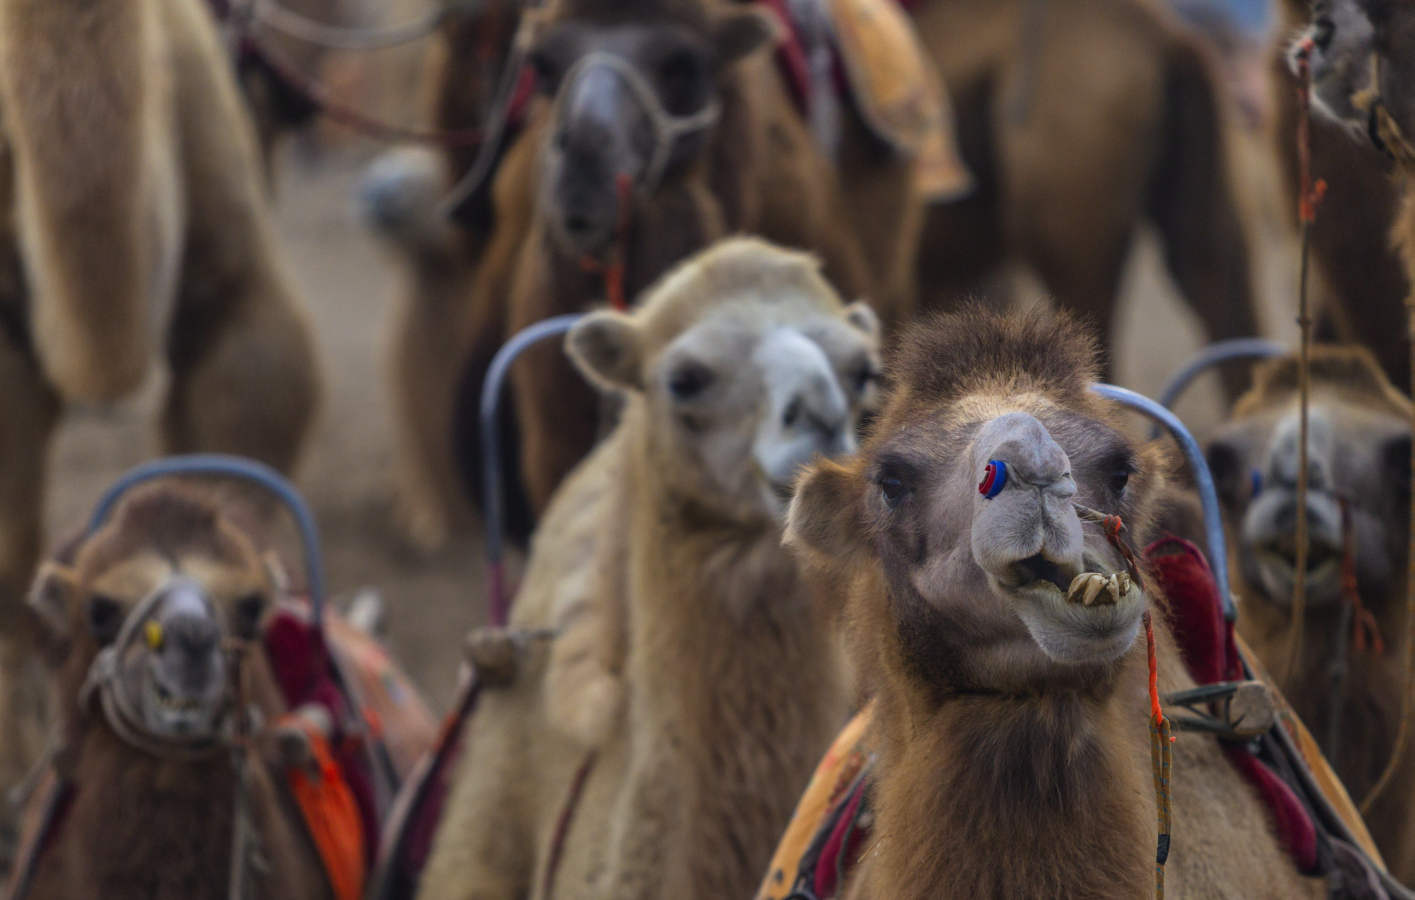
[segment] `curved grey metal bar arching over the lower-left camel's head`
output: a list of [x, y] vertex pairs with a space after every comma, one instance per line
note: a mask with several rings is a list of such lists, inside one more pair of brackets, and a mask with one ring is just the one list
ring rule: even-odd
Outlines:
[[241, 456], [222, 453], [195, 453], [191, 456], [170, 456], [150, 463], [143, 463], [127, 470], [108, 491], [99, 498], [89, 517], [86, 535], [96, 532], [109, 514], [127, 491], [139, 484], [154, 478], [173, 475], [219, 475], [235, 478], [248, 484], [255, 484], [279, 500], [300, 532], [300, 543], [304, 550], [304, 577], [310, 590], [310, 606], [314, 610], [314, 624], [324, 625], [324, 556], [320, 550], [320, 531], [314, 524], [314, 514], [304, 502], [300, 491], [275, 468]]

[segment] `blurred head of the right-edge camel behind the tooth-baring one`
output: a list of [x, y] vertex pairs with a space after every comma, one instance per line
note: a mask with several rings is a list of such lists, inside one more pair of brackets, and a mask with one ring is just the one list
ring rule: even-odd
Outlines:
[[[1298, 403], [1298, 361], [1266, 362], [1208, 447], [1244, 580], [1282, 607], [1296, 559]], [[1319, 347], [1307, 415], [1306, 603], [1341, 597], [1343, 504], [1358, 582], [1381, 596], [1405, 572], [1409, 402], [1365, 350]]]

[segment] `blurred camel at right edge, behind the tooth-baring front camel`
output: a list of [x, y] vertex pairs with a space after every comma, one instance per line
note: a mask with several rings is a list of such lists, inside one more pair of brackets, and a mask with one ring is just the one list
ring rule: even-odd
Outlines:
[[[1353, 797], [1385, 768], [1405, 683], [1405, 553], [1409, 522], [1411, 403], [1374, 357], [1354, 347], [1317, 347], [1312, 357], [1307, 533], [1302, 657], [1288, 672], [1298, 471], [1298, 361], [1262, 364], [1254, 385], [1214, 436], [1210, 468], [1228, 519], [1238, 630], [1293, 709], [1327, 746]], [[1397, 490], [1392, 490], [1397, 488]], [[1348, 524], [1347, 524], [1348, 517]], [[1346, 535], [1361, 607], [1384, 647], [1343, 650]], [[1367, 625], [1358, 623], [1363, 633]], [[1370, 635], [1365, 635], [1370, 640]], [[1350, 644], [1347, 644], [1350, 647]], [[1346, 659], [1340, 695], [1332, 683]], [[1365, 815], [1391, 873], [1415, 883], [1415, 756]]]

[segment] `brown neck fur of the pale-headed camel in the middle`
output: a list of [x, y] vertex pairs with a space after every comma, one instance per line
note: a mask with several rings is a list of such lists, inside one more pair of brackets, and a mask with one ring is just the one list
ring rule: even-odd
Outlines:
[[645, 456], [647, 433], [634, 443], [634, 729], [674, 747], [688, 785], [695, 896], [743, 896], [845, 719], [845, 667], [781, 525], [700, 515]]

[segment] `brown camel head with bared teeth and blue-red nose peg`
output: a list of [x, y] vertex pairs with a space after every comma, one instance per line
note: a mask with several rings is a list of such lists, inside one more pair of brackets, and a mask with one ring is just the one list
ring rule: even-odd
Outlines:
[[1135, 642], [1148, 599], [1111, 580], [1125, 562], [1074, 504], [1143, 533], [1163, 458], [1126, 439], [1095, 375], [1067, 316], [934, 317], [904, 335], [867, 446], [798, 484], [788, 542], [887, 596], [899, 655], [931, 688], [1102, 689]]

